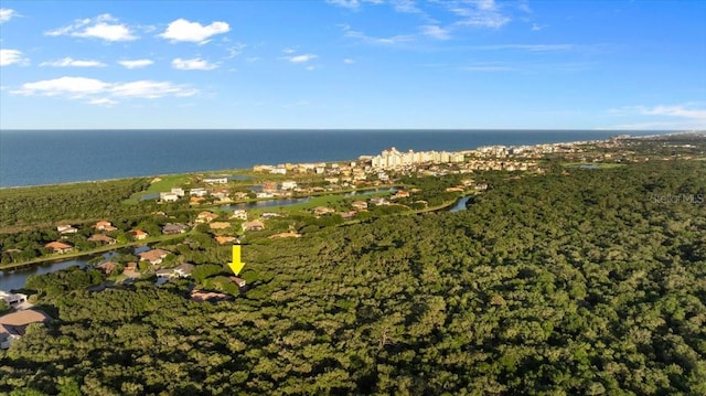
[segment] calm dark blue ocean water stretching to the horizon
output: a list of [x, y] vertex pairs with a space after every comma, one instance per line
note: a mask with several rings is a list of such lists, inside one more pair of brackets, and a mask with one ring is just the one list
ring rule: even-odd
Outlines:
[[[606, 139], [593, 130], [2, 130], [0, 188]], [[654, 131], [644, 132], [655, 133]]]

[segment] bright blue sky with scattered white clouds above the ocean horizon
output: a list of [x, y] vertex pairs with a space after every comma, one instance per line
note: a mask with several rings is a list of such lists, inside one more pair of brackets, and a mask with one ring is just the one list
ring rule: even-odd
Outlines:
[[2, 129], [706, 129], [706, 1], [1, 8]]

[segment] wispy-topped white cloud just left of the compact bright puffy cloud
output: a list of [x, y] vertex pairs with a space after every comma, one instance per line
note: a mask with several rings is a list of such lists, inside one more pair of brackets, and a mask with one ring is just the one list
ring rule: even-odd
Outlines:
[[107, 13], [96, 18], [75, 20], [74, 23], [69, 25], [49, 31], [45, 34], [52, 36], [71, 35], [74, 38], [93, 38], [110, 42], [138, 39], [128, 26], [118, 23], [118, 19]]

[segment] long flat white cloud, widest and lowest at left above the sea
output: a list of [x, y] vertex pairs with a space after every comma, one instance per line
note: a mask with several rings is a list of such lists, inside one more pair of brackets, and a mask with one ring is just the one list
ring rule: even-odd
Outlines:
[[86, 98], [93, 105], [115, 105], [117, 98], [156, 99], [165, 96], [186, 97], [197, 89], [170, 82], [136, 81], [108, 83], [86, 77], [60, 77], [25, 83], [12, 94], [24, 96], [62, 96], [69, 99]]

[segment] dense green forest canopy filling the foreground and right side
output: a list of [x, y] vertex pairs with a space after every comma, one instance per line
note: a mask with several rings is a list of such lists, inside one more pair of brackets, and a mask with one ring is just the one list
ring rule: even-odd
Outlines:
[[704, 395], [704, 191], [700, 161], [498, 179], [468, 211], [247, 245], [216, 303], [34, 279], [56, 320], [0, 352], [0, 392]]

